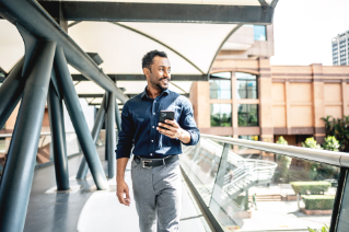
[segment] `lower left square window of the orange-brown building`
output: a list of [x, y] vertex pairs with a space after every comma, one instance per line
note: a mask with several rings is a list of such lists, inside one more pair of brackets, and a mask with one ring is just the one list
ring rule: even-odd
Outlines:
[[211, 127], [232, 126], [232, 105], [211, 104]]

